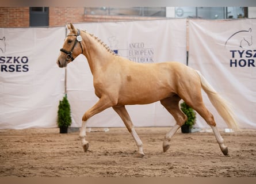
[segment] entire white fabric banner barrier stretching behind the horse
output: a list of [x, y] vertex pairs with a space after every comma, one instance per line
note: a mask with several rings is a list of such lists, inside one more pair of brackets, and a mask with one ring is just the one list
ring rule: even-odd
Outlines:
[[[74, 24], [100, 38], [120, 56], [135, 62], [187, 62], [199, 70], [234, 107], [241, 128], [256, 128], [256, 19], [151, 20]], [[0, 28], [0, 129], [56, 127], [59, 100], [65, 93], [65, 69], [56, 65], [67, 30]], [[81, 85], [82, 84], [82, 85]], [[193, 87], [193, 86], [192, 86]], [[93, 76], [84, 56], [66, 70], [72, 127], [96, 101]], [[136, 92], [135, 92], [136, 93]], [[204, 94], [204, 93], [203, 93]], [[223, 120], [204, 94], [218, 127]], [[159, 102], [128, 106], [136, 127], [170, 127], [174, 119]], [[88, 127], [124, 127], [113, 109], [92, 117]], [[197, 116], [195, 127], [208, 127]]]

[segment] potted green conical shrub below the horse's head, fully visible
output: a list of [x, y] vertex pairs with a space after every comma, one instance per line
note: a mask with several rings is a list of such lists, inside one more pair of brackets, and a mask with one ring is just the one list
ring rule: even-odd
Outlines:
[[58, 120], [57, 124], [60, 128], [60, 133], [67, 133], [68, 127], [71, 125], [71, 110], [70, 104], [67, 100], [67, 95], [65, 95], [62, 101], [59, 102], [58, 109]]

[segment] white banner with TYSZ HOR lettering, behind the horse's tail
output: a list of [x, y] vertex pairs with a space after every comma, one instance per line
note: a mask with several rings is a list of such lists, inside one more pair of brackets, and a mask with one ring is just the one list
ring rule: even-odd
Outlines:
[[[241, 128], [256, 128], [256, 19], [189, 20], [189, 66], [229, 101]], [[204, 93], [218, 127], [227, 127]], [[198, 127], [207, 127], [200, 116]]]

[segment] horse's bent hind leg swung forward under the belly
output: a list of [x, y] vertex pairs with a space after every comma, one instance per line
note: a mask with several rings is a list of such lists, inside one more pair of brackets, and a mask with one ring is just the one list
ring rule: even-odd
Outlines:
[[179, 109], [180, 100], [181, 98], [179, 98], [178, 95], [174, 95], [173, 97], [161, 100], [161, 104], [167, 109], [169, 113], [171, 113], [171, 115], [173, 115], [176, 121], [174, 127], [165, 135], [165, 140], [163, 140], [163, 152], [166, 152], [169, 149], [171, 137], [173, 137], [179, 127], [181, 127], [188, 119], [186, 115]]

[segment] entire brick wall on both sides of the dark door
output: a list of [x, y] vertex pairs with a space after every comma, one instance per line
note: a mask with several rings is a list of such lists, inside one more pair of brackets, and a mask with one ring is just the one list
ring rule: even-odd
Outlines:
[[[68, 22], [109, 22], [154, 20], [163, 17], [86, 15], [84, 7], [49, 7], [49, 27], [64, 26]], [[29, 7], [0, 7], [0, 28], [28, 28]]]

